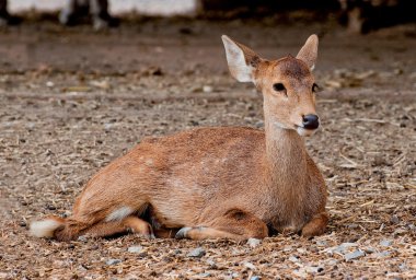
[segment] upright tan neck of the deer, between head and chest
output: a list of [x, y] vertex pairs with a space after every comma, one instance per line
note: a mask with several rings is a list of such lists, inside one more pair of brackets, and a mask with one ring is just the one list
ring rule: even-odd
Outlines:
[[297, 194], [307, 180], [307, 151], [296, 130], [285, 129], [265, 114], [267, 179], [280, 195]]

